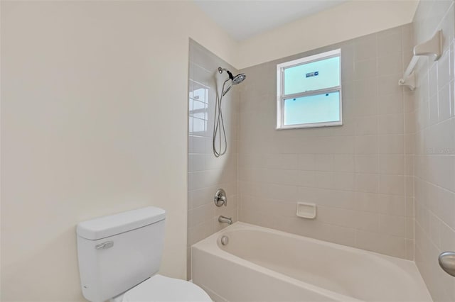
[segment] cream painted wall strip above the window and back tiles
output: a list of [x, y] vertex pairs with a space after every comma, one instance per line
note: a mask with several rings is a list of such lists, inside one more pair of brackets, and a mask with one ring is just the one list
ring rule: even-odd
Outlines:
[[418, 1], [347, 1], [242, 41], [238, 69], [410, 23]]

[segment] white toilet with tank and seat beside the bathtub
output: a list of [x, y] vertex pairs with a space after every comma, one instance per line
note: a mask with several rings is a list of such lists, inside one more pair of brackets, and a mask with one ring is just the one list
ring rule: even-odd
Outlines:
[[164, 210], [150, 206], [77, 225], [80, 284], [87, 300], [212, 301], [196, 284], [156, 274], [165, 218]]

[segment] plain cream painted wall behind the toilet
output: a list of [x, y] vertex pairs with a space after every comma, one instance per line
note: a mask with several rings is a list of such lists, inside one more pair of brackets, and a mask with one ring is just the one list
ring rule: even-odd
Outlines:
[[75, 225], [166, 209], [161, 273], [186, 277], [191, 2], [1, 2], [1, 300], [82, 301]]

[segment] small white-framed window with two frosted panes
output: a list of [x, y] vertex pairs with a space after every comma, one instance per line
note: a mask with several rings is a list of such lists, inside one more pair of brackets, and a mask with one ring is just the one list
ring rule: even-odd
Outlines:
[[277, 65], [277, 129], [342, 125], [341, 50]]

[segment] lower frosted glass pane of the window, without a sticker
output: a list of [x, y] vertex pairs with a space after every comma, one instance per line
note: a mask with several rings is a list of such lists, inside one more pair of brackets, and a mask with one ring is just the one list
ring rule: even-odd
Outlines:
[[340, 121], [340, 93], [284, 100], [284, 125]]

